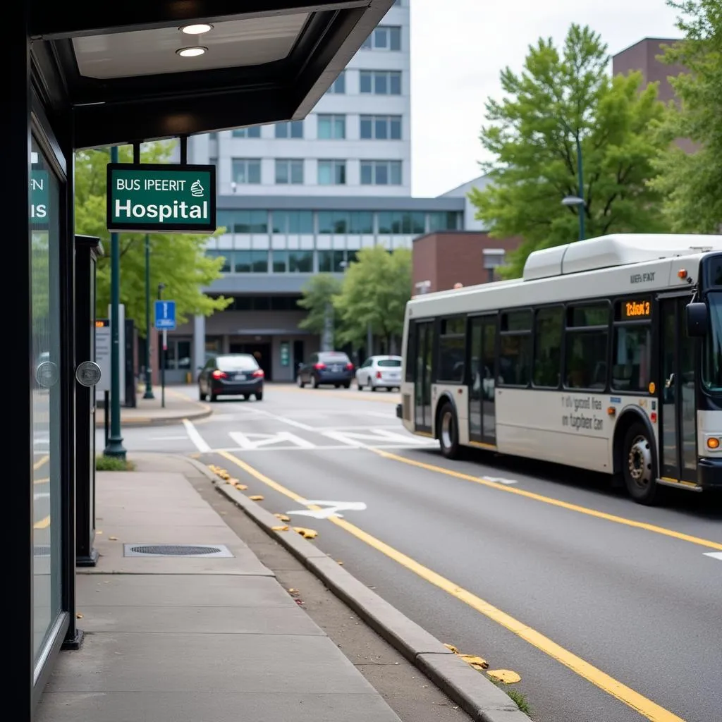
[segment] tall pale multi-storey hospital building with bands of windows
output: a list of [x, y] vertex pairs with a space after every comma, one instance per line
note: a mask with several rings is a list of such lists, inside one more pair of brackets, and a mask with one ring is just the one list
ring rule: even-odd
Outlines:
[[409, 2], [396, 0], [303, 121], [197, 136], [188, 162], [217, 166], [225, 258], [206, 292], [232, 297], [169, 335], [167, 378], [193, 378], [217, 352], [251, 352], [270, 380], [292, 380], [320, 339], [298, 328], [297, 300], [318, 272], [342, 274], [360, 248], [411, 248], [464, 227], [464, 196], [411, 195]]

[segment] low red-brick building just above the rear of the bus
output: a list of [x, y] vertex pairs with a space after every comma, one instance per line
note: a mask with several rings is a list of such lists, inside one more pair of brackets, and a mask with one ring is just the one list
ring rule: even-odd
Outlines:
[[441, 231], [414, 238], [412, 294], [445, 291], [461, 283], [497, 280], [496, 269], [521, 238], [490, 238], [486, 231]]

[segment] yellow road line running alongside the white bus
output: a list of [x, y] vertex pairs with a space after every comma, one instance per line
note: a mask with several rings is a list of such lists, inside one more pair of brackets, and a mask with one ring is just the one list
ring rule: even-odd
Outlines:
[[401, 461], [404, 464], [410, 466], [417, 466], [419, 469], [426, 469], [427, 471], [435, 471], [437, 474], [445, 474], [448, 477], [454, 477], [455, 479], [464, 479], [467, 482], [474, 482], [474, 484], [481, 484], [484, 487], [490, 487], [491, 489], [497, 489], [501, 492], [507, 492], [508, 494], [516, 494], [517, 496], [523, 496], [527, 499], [534, 499], [535, 501], [541, 501], [544, 504], [550, 504], [552, 506], [558, 506], [562, 509], [568, 509], [570, 511], [576, 511], [580, 514], [586, 514], [586, 516], [593, 516], [597, 519], [604, 519], [605, 521], [612, 521], [617, 524], [624, 524], [625, 526], [632, 526], [635, 529], [644, 529], [645, 531], [652, 531], [654, 534], [661, 534], [662, 536], [671, 536], [673, 539], [680, 539], [682, 541], [690, 541], [692, 544], [697, 544], [700, 547], [708, 547], [708, 549], [718, 549], [722, 551], [722, 543], [718, 541], [710, 541], [710, 539], [701, 539], [699, 536], [692, 536], [691, 534], [684, 534], [682, 531], [674, 531], [674, 529], [665, 529], [664, 526], [656, 526], [656, 524], [649, 524], [645, 521], [636, 521], [635, 519], [627, 519], [624, 516], [616, 516], [614, 514], [608, 514], [604, 511], [597, 511], [596, 509], [590, 509], [586, 506], [580, 506], [578, 504], [572, 504], [567, 501], [561, 501], [552, 497], [547, 497], [534, 492], [529, 492], [524, 489], [518, 489], [517, 487], [508, 487], [505, 484], [498, 484], [497, 482], [490, 482], [488, 479], [481, 479], [479, 477], [472, 477], [471, 474], [464, 474], [462, 471], [453, 471], [452, 469], [445, 469], [443, 466], [435, 466], [434, 464], [425, 464], [423, 461], [415, 461], [412, 458], [406, 458], [406, 456], [399, 456], [395, 453], [389, 453], [383, 451], [383, 449], [368, 448], [368, 451], [383, 456], [383, 458], [393, 459], [393, 461]]

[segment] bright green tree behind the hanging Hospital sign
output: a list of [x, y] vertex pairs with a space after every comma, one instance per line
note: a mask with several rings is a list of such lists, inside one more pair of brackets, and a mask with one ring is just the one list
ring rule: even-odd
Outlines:
[[[144, 144], [143, 162], [168, 162], [173, 142]], [[132, 148], [121, 147], [120, 162], [132, 162]], [[105, 316], [110, 302], [110, 233], [105, 227], [105, 166], [110, 149], [80, 151], [75, 157], [75, 228], [82, 235], [103, 241], [105, 255], [97, 263], [96, 310]], [[207, 235], [185, 233], [150, 235], [150, 283], [155, 297], [159, 283], [165, 283], [165, 298], [176, 303], [178, 324], [191, 314], [210, 316], [230, 303], [223, 297], [212, 298], [201, 291], [220, 277], [222, 259], [205, 256]], [[145, 234], [122, 233], [121, 303], [126, 318], [132, 318], [142, 336], [145, 328]]]

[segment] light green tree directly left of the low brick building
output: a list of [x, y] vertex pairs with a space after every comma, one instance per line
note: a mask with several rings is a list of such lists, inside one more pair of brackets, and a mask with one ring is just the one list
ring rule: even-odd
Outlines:
[[335, 300], [342, 323], [339, 339], [361, 346], [370, 324], [374, 336], [386, 339], [388, 348], [395, 349], [404, 330], [406, 301], [411, 297], [411, 251], [396, 248], [388, 253], [375, 245], [362, 248], [356, 258]]

